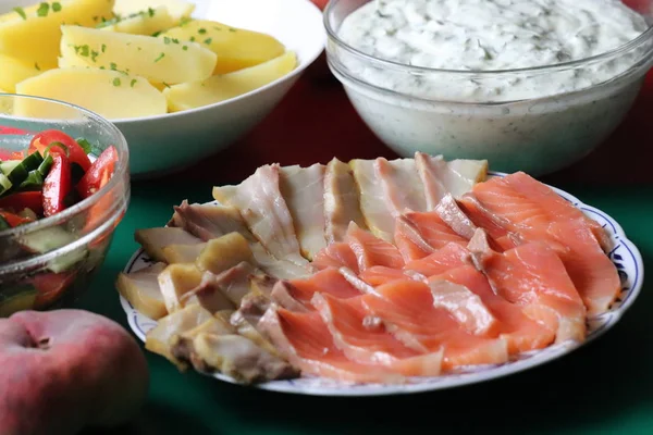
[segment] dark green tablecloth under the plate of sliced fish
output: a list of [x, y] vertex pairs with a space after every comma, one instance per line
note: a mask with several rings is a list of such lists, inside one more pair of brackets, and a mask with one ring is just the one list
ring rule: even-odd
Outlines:
[[[133, 186], [130, 210], [81, 308], [127, 327], [113, 282], [137, 249], [134, 231], [164, 224], [172, 206], [183, 199], [210, 200], [210, 185], [171, 186], [170, 182]], [[558, 187], [615, 217], [641, 250], [645, 266], [653, 268], [653, 186]], [[147, 353], [151, 371], [147, 406], [132, 424], [108, 433], [653, 434], [652, 291], [649, 281], [619, 324], [563, 359], [480, 385], [411, 396], [340, 399], [266, 393], [182, 374]]]

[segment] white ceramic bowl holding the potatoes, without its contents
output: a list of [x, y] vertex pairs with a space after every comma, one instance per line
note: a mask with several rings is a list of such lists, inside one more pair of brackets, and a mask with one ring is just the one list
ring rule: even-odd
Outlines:
[[[291, 74], [229, 101], [185, 112], [114, 120], [130, 144], [132, 176], [173, 172], [225, 149], [282, 100], [323, 51], [322, 13], [310, 0], [189, 0], [194, 17], [270, 34], [298, 57]], [[0, 0], [0, 13], [37, 0]]]

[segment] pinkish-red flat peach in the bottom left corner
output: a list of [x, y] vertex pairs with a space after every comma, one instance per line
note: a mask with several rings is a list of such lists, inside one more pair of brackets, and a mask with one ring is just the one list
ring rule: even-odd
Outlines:
[[118, 323], [81, 310], [1, 319], [0, 368], [2, 435], [70, 435], [124, 423], [149, 386], [134, 338]]

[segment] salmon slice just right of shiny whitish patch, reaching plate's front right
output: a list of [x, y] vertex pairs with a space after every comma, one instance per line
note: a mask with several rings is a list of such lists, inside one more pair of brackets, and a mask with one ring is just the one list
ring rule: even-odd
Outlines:
[[542, 349], [555, 339], [555, 332], [528, 318], [517, 304], [494, 294], [488, 278], [471, 265], [452, 269], [441, 275], [431, 276], [430, 282], [445, 281], [467, 287], [477, 294], [497, 321], [496, 333], [508, 343], [510, 355]]

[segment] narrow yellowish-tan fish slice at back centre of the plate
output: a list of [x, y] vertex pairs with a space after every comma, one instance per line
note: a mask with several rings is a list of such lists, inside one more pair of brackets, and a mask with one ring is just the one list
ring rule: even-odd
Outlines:
[[337, 159], [329, 162], [324, 174], [324, 217], [329, 244], [345, 238], [349, 222], [367, 229], [352, 169]]

